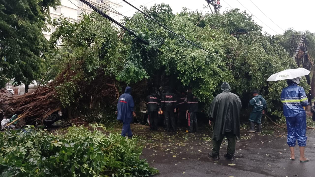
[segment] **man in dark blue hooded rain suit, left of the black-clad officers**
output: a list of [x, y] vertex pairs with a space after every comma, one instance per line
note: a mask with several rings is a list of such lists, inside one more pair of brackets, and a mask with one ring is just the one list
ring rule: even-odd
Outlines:
[[126, 136], [128, 133], [128, 137], [132, 138], [132, 132], [130, 129], [130, 123], [132, 123], [133, 118], [136, 117], [136, 113], [134, 110], [134, 99], [131, 96], [131, 87], [126, 87], [125, 93], [122, 94], [117, 103], [117, 120], [123, 122], [123, 129], [121, 130], [121, 135]]

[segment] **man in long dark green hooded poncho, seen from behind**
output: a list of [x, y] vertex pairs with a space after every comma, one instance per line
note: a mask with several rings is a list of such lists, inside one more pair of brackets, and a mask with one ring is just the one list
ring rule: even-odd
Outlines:
[[209, 125], [214, 122], [212, 137], [212, 154], [209, 157], [220, 159], [219, 151], [224, 136], [227, 138], [227, 154], [225, 158], [235, 160], [236, 140], [240, 138], [239, 113], [242, 108], [242, 102], [236, 94], [231, 93], [229, 83], [224, 82], [221, 85], [223, 92], [218, 94], [212, 101], [209, 108]]

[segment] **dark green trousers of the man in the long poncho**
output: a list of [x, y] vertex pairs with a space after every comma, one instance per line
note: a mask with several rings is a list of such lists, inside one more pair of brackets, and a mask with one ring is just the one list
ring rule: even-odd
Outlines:
[[[226, 132], [225, 136], [227, 139], [227, 153], [234, 154], [236, 146], [236, 135], [233, 134], [233, 132]], [[219, 154], [220, 146], [223, 139], [224, 136], [222, 136], [221, 140], [215, 140], [215, 137], [212, 137], [212, 154]]]

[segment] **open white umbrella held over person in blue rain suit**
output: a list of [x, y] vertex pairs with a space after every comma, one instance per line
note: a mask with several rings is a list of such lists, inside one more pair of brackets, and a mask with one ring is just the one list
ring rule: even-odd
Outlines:
[[305, 68], [297, 68], [297, 69], [289, 69], [277, 72], [276, 74], [272, 74], [267, 81], [280, 81], [280, 80], [287, 80], [287, 79], [294, 79], [296, 77], [306, 76], [311, 71], [308, 71]]

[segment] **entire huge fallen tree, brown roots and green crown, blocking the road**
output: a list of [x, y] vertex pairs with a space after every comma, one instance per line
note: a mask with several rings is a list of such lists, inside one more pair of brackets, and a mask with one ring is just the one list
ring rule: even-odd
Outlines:
[[[273, 36], [262, 34], [261, 26], [250, 15], [236, 9], [206, 17], [184, 9], [175, 15], [165, 4], [144, 10], [211, 53], [182, 41], [138, 13], [133, 16], [137, 21], [125, 20], [125, 26], [149, 45], [120, 33], [97, 14], [93, 14], [97, 20], [89, 15], [83, 15], [79, 22], [55, 19], [56, 31], [45, 53], [50, 63], [44, 81], [47, 86], [36, 94], [10, 99], [7, 114], [25, 113], [29, 118], [21, 119], [20, 126], [41, 122], [61, 109], [70, 118], [94, 106], [111, 107], [108, 114], [113, 114], [119, 91], [127, 84], [138, 87], [134, 91], [138, 103], [147, 87], [169, 85], [177, 90], [192, 87], [207, 104], [227, 81], [243, 105], [248, 104], [251, 90], [259, 89], [267, 100], [268, 112], [283, 117], [280, 94], [286, 83], [265, 81], [271, 74], [297, 65]], [[305, 82], [301, 86], [309, 90]]]

